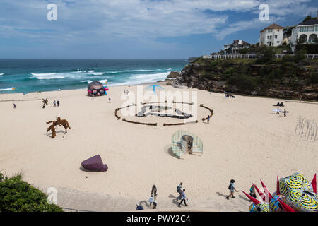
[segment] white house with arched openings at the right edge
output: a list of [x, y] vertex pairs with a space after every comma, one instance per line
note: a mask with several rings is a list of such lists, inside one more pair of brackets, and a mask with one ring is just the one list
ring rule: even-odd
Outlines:
[[[317, 13], [318, 18], [318, 13]], [[290, 38], [290, 47], [295, 51], [297, 41], [300, 40], [303, 44], [310, 44], [317, 42], [318, 36], [318, 19], [311, 19], [299, 23], [298, 26], [293, 28]]]

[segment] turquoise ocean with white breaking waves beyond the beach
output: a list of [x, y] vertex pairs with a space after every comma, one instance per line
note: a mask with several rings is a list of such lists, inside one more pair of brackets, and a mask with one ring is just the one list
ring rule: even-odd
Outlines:
[[187, 64], [184, 59], [0, 59], [0, 93], [72, 90], [86, 88], [90, 81], [107, 81], [107, 86], [151, 83]]

